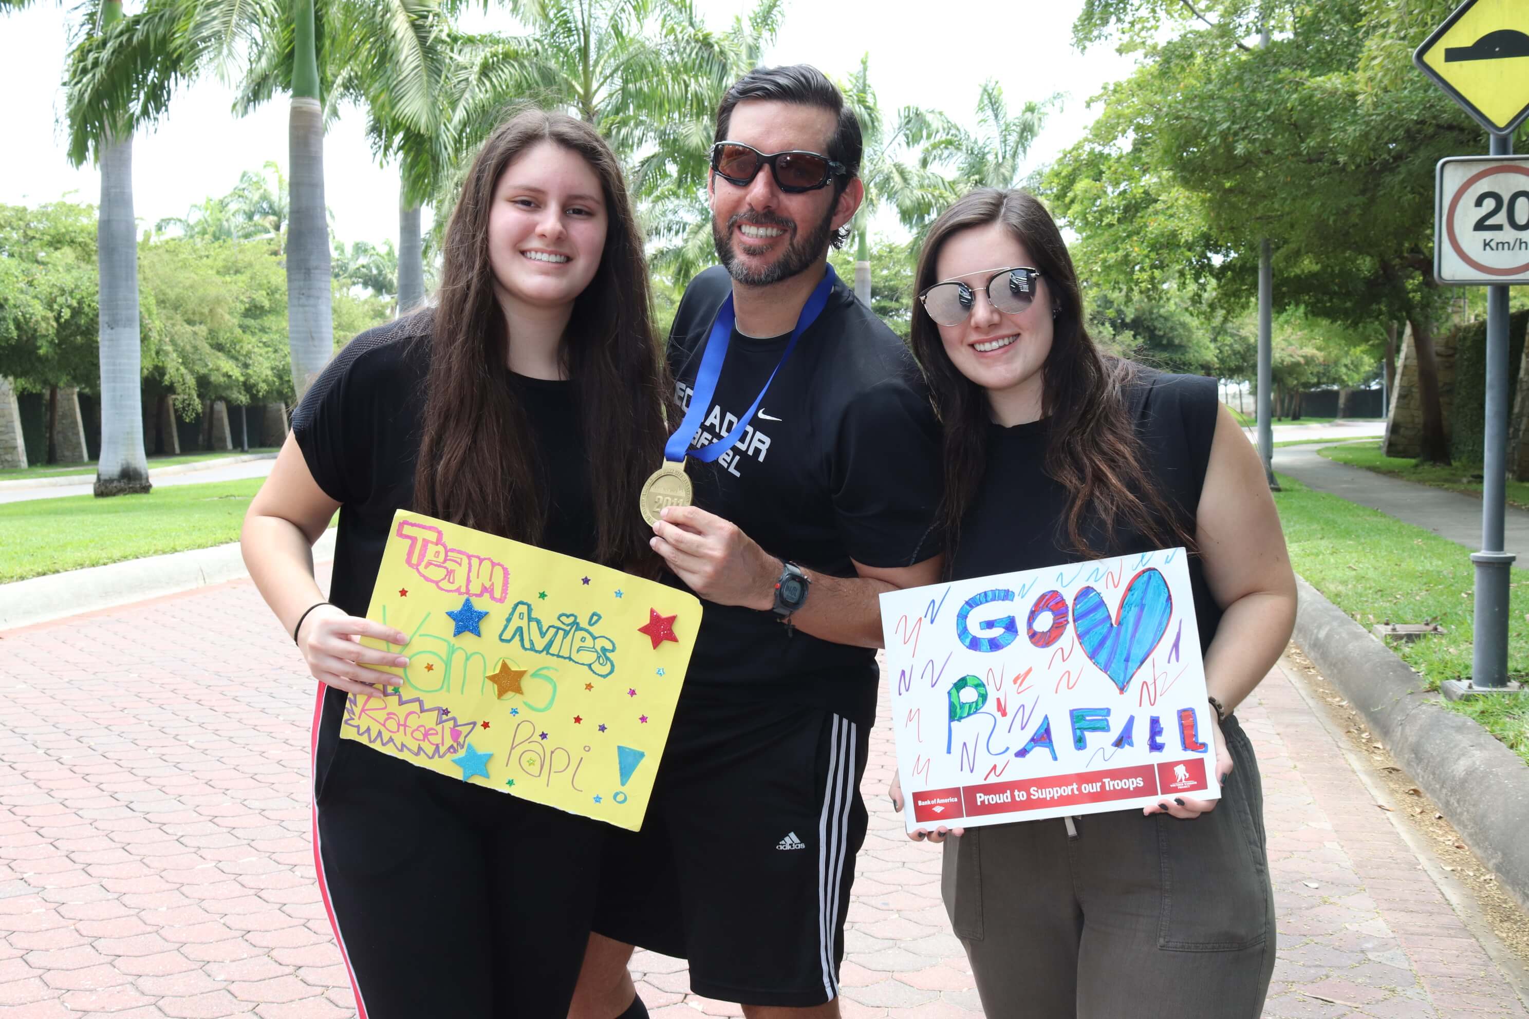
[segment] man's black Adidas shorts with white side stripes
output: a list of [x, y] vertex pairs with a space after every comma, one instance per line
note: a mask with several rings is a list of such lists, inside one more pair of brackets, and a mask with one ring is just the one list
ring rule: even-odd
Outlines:
[[821, 707], [687, 695], [641, 833], [605, 842], [595, 929], [690, 959], [697, 995], [838, 995], [867, 732]]

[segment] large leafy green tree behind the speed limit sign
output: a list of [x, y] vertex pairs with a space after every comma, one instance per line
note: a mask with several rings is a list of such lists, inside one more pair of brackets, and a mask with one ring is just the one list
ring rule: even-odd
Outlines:
[[[1437, 449], [1425, 455], [1446, 457], [1431, 371], [1433, 167], [1483, 139], [1410, 66], [1449, 5], [1398, 6], [1090, 0], [1078, 41], [1113, 35], [1142, 63], [1105, 89], [1101, 118], [1046, 191], [1084, 237], [1084, 272], [1124, 290], [1176, 281], [1238, 307], [1268, 237], [1277, 306], [1359, 332], [1407, 319], [1425, 429], [1434, 408]], [[1263, 24], [1272, 40], [1260, 47]]]

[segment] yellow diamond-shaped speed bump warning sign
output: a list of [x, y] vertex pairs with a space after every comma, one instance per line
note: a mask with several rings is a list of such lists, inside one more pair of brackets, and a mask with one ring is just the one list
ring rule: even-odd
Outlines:
[[1488, 131], [1511, 134], [1529, 116], [1529, 0], [1465, 0], [1413, 63]]

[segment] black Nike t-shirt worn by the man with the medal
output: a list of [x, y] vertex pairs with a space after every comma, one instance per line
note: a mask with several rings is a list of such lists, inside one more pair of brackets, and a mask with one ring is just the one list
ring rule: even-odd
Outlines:
[[[700, 356], [732, 280], [717, 266], [685, 290], [668, 361], [688, 409]], [[691, 446], [720, 442], [780, 364], [790, 335], [737, 330]], [[940, 548], [939, 429], [919, 368], [896, 333], [838, 283], [797, 341], [743, 437], [717, 461], [687, 460], [696, 504], [737, 524], [772, 556], [832, 576], [907, 567]], [[809, 602], [812, 594], [807, 596]], [[830, 643], [772, 613], [706, 603], [688, 695], [790, 697], [870, 724], [876, 662], [867, 648]]]

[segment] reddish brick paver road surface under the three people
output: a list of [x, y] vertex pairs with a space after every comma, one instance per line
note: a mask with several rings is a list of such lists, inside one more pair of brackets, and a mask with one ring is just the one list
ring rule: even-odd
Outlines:
[[[353, 1013], [313, 883], [295, 665], [248, 582], [0, 634], [0, 1016]], [[1242, 717], [1280, 911], [1266, 1014], [1529, 1019], [1292, 680], [1277, 669]], [[977, 1016], [939, 851], [902, 837], [890, 775], [884, 721], [844, 1014]], [[659, 1016], [739, 1014], [690, 995], [679, 959], [635, 969]]]

